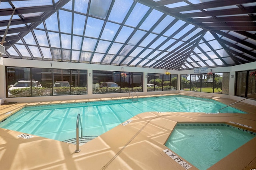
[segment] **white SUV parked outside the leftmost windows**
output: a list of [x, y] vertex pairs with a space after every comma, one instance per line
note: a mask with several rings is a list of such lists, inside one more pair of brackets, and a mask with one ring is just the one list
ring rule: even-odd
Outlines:
[[28, 88], [32, 85], [32, 87], [38, 87], [41, 88], [42, 85], [40, 84], [40, 82], [36, 81], [36, 80], [20, 80], [18, 82], [16, 82], [14, 85], [11, 85], [11, 87], [8, 89], [8, 95], [12, 95], [11, 94], [11, 90], [14, 89], [19, 89], [19, 88]]

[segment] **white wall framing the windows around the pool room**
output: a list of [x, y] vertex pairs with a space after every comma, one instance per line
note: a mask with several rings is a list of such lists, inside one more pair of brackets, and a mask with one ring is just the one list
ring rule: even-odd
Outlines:
[[[5, 66], [14, 67], [34, 67], [34, 68], [59, 68], [59, 69], [78, 69], [87, 70], [88, 75], [88, 87], [86, 95], [70, 95], [70, 96], [38, 96], [38, 97], [24, 97], [24, 98], [6, 98], [6, 82], [5, 82]], [[194, 74], [194, 70], [168, 70], [171, 74], [178, 74], [178, 90], [172, 91], [156, 91], [146, 92], [147, 87], [144, 86], [144, 92], [138, 92], [138, 95], [153, 95], [153, 94], [171, 94], [171, 93], [186, 93], [195, 94], [200, 96], [214, 96], [221, 98], [231, 98], [234, 100], [240, 100], [238, 96], [234, 96], [234, 84], [235, 84], [235, 72], [241, 70], [253, 70], [256, 69], [256, 62], [241, 64], [230, 67], [216, 67], [209, 68], [212, 72], [230, 72], [230, 86], [229, 94], [215, 94], [215, 93], [204, 93], [204, 92], [189, 92], [180, 89], [180, 74]], [[105, 71], [123, 71], [123, 72], [143, 72], [143, 84], [147, 84], [147, 74], [159, 73], [164, 74], [166, 70], [154, 69], [154, 68], [140, 68], [140, 67], [128, 67], [128, 66], [112, 66], [103, 64], [86, 64], [86, 63], [67, 63], [67, 62], [56, 62], [56, 61], [37, 61], [37, 60], [22, 60], [22, 59], [9, 59], [0, 57], [0, 100], [4, 103], [7, 102], [44, 102], [54, 100], [76, 100], [76, 99], [91, 99], [91, 98], [108, 98], [108, 97], [122, 97], [128, 96], [128, 93], [114, 93], [114, 94], [92, 94], [92, 70], [105, 70]], [[234, 75], [234, 78], [231, 78]], [[254, 100], [245, 100], [244, 102], [256, 105]]]

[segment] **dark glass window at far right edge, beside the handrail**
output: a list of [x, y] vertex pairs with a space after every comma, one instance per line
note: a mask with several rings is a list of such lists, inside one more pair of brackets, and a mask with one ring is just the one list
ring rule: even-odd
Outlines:
[[256, 70], [236, 72], [235, 95], [256, 99]]

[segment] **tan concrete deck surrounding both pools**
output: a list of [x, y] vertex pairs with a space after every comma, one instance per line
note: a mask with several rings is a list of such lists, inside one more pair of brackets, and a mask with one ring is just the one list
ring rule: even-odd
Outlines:
[[[163, 95], [153, 95], [163, 96]], [[142, 97], [153, 97], [142, 96]], [[198, 96], [200, 97], [200, 96]], [[111, 100], [121, 98], [108, 98]], [[12, 104], [0, 106], [0, 121], [5, 119], [6, 113], [14, 113], [26, 105], [69, 103], [96, 101], [72, 100], [42, 102], [30, 104]], [[215, 99], [225, 104], [235, 102], [229, 99]], [[75, 153], [76, 145], [46, 139], [32, 135], [30, 139], [17, 137], [22, 134], [0, 128], [0, 169], [1, 170], [184, 170], [177, 160], [188, 164], [187, 160], [178, 156], [176, 160], [170, 158], [164, 149], [164, 143], [168, 139], [177, 122], [183, 123], [227, 123], [236, 122], [251, 126], [243, 129], [256, 132], [256, 106], [246, 103], [238, 103], [233, 107], [242, 109], [248, 114], [205, 114], [185, 112], [146, 112], [140, 113], [130, 120], [130, 123], [118, 125], [110, 131], [100, 135], [94, 140], [80, 146], [80, 152]], [[180, 161], [180, 162], [182, 162]], [[196, 170], [192, 166], [189, 170]], [[256, 137], [242, 147], [214, 164], [211, 170], [250, 170], [256, 168]]]

